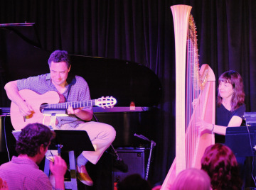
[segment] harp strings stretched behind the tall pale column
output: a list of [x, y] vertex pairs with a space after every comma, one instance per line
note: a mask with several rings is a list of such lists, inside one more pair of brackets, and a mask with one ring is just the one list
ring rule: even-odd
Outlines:
[[200, 118], [201, 76], [199, 74], [198, 45], [196, 26], [193, 16], [188, 21], [188, 39], [186, 55], [186, 167], [193, 167], [194, 156], [198, 148], [200, 133], [196, 121]]

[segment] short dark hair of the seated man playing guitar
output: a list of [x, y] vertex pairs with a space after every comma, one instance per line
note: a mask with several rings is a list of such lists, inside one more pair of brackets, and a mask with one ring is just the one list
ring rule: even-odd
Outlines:
[[68, 52], [65, 50], [55, 50], [50, 54], [50, 57], [48, 59], [48, 65], [50, 67], [51, 62], [65, 62], [67, 67], [70, 67], [70, 57], [68, 55]]

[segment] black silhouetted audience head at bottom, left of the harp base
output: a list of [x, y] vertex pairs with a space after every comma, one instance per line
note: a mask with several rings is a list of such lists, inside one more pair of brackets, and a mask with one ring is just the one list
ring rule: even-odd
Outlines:
[[151, 190], [149, 181], [143, 179], [139, 174], [131, 174], [125, 177], [117, 186], [118, 190]]

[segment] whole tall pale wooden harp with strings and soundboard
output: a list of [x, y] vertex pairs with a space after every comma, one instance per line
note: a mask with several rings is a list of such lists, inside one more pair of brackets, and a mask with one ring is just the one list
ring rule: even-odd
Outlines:
[[171, 6], [176, 50], [176, 157], [161, 189], [169, 189], [183, 169], [201, 169], [203, 152], [214, 143], [213, 133], [200, 133], [196, 127], [198, 118], [215, 123], [215, 76], [208, 65], [199, 69], [191, 9], [186, 5]]

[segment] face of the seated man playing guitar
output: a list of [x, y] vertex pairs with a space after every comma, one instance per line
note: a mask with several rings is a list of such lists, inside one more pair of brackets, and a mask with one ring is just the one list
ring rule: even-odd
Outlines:
[[50, 78], [55, 86], [65, 86], [68, 72], [70, 72], [70, 67], [68, 68], [65, 62], [51, 62]]

